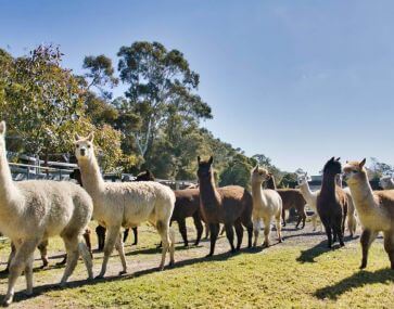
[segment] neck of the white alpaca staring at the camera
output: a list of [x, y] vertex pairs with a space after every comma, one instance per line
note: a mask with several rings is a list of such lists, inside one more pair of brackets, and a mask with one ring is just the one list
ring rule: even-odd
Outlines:
[[104, 190], [104, 179], [94, 155], [89, 160], [79, 160], [79, 168], [84, 188], [90, 195]]

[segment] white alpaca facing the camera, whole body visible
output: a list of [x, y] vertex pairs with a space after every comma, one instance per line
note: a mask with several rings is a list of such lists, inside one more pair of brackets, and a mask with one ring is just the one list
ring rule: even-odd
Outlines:
[[93, 219], [107, 229], [104, 245], [102, 278], [114, 246], [119, 253], [122, 273], [127, 272], [120, 228], [134, 228], [150, 221], [157, 229], [163, 243], [160, 269], [164, 269], [166, 253], [169, 249], [174, 263], [174, 235], [169, 233], [169, 220], [175, 205], [175, 194], [166, 185], [153, 181], [104, 182], [93, 150], [93, 134], [87, 138], [76, 136], [75, 155], [78, 159], [84, 188], [93, 199]]

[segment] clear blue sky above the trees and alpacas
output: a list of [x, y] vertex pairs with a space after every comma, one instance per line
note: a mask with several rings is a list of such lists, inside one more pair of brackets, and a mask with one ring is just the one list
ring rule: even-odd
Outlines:
[[117, 65], [122, 46], [162, 42], [200, 74], [202, 126], [316, 175], [332, 156], [394, 164], [393, 16], [383, 0], [0, 0], [0, 48], [55, 43], [80, 73], [85, 55]]

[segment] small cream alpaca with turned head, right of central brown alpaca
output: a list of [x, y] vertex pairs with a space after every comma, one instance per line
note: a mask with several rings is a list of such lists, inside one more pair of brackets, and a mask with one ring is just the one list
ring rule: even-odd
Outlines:
[[269, 246], [270, 223], [272, 218], [276, 219], [277, 234], [279, 242], [282, 242], [281, 235], [281, 216], [282, 216], [282, 198], [275, 190], [263, 190], [262, 184], [269, 178], [268, 171], [259, 168], [258, 165], [252, 170], [252, 196], [253, 196], [253, 229], [254, 243], [257, 245], [260, 221], [264, 221], [264, 246]]

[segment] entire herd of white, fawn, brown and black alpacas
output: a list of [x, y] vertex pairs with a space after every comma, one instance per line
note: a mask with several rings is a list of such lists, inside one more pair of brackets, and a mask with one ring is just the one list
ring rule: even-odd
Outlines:
[[[307, 207], [314, 211], [310, 217], [314, 230], [319, 220], [325, 227], [330, 248], [336, 241], [344, 246], [346, 220], [351, 237], [356, 232], [357, 221], [361, 224], [360, 268], [367, 266], [369, 247], [378, 233], [383, 232], [384, 249], [394, 269], [394, 190], [371, 190], [365, 159], [346, 163], [342, 168], [340, 158], [332, 157], [323, 167], [321, 189], [315, 192], [309, 188], [307, 173], [298, 175], [297, 189], [277, 189], [274, 176], [257, 165], [251, 170], [250, 193], [239, 185], [217, 188], [212, 156], [208, 160], [198, 157], [198, 188], [176, 191], [154, 181], [148, 171], [137, 181], [104, 182], [94, 155], [92, 133], [86, 138], [75, 137], [75, 156], [80, 170], [80, 185], [49, 180], [15, 182], [7, 159], [5, 123], [0, 123], [0, 231], [10, 239], [13, 247], [8, 267], [8, 291], [3, 299], [5, 306], [13, 300], [15, 282], [22, 272], [26, 278], [27, 294], [33, 293], [34, 252], [37, 247], [40, 249], [43, 266], [47, 266], [48, 240], [56, 235], [63, 239], [66, 250], [61, 286], [73, 273], [79, 256], [86, 265], [88, 279], [93, 279], [90, 230], [87, 227], [90, 220], [99, 223], [99, 249], [104, 252], [97, 278], [105, 275], [114, 247], [122, 262], [119, 274], [127, 272], [124, 242], [128, 229], [132, 228], [137, 243], [137, 227], [142, 222], [151, 223], [160, 234], [162, 258], [158, 270], [163, 270], [167, 253], [169, 266], [175, 262], [173, 221], [177, 221], [186, 247], [189, 246], [186, 219], [193, 218], [198, 233], [194, 245], [200, 243], [204, 222], [211, 233], [207, 255], [211, 257], [215, 252], [220, 224], [224, 224], [231, 253], [240, 250], [244, 229], [249, 248], [252, 247], [253, 234], [253, 246], [257, 246], [262, 228], [263, 246], [268, 247], [272, 221], [278, 242], [281, 243], [285, 210], [296, 209], [296, 228], [302, 222], [303, 229]], [[348, 188], [342, 188], [342, 175]], [[390, 180], [393, 182], [392, 178]], [[390, 188], [389, 180], [381, 179], [381, 183], [387, 183], [386, 188]], [[126, 229], [124, 236], [120, 234], [122, 228]]]

